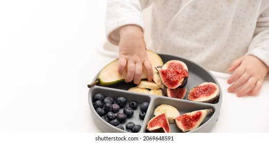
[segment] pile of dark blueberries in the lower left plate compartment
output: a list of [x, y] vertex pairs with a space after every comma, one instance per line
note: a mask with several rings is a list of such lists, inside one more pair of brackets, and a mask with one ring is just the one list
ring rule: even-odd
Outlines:
[[[127, 118], [132, 117], [134, 110], [137, 109], [137, 102], [131, 101], [129, 106], [127, 105], [127, 99], [125, 97], [119, 96], [116, 99], [112, 97], [105, 97], [102, 93], [96, 93], [93, 96], [93, 107], [96, 113], [109, 124], [128, 131], [128, 132], [139, 132], [141, 125], [136, 125], [133, 122], [128, 122], [125, 124], [125, 128], [120, 125], [125, 123]], [[139, 118], [144, 119], [146, 112], [148, 110], [149, 103], [143, 102], [140, 105]], [[122, 112], [119, 109], [123, 108]]]

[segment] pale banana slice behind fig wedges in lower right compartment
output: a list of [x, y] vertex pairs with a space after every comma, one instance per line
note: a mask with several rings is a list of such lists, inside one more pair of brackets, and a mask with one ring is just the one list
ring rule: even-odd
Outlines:
[[157, 108], [155, 108], [154, 115], [157, 115], [162, 111], [165, 111], [167, 113], [169, 124], [174, 124], [174, 118], [180, 115], [177, 108], [167, 104], [161, 104]]

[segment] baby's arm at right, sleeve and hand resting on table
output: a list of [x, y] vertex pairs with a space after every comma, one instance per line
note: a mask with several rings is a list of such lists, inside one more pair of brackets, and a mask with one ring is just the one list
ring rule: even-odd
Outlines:
[[269, 8], [264, 9], [257, 19], [254, 38], [245, 56], [235, 60], [228, 71], [234, 74], [227, 80], [232, 84], [229, 92], [236, 91], [237, 96], [258, 94], [269, 70]]

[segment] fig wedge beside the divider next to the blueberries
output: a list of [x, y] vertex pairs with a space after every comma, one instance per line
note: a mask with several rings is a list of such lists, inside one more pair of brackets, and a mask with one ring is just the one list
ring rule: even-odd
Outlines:
[[156, 116], [154, 116], [148, 122], [147, 130], [152, 133], [171, 133], [167, 113], [165, 111], [162, 111]]

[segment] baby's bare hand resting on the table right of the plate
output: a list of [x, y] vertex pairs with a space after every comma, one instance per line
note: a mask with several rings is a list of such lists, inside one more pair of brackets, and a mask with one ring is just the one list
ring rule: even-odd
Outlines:
[[228, 92], [238, 89], [236, 95], [241, 97], [244, 94], [258, 94], [269, 67], [257, 57], [246, 55], [235, 60], [227, 70], [234, 71], [227, 80], [228, 84], [232, 84]]

